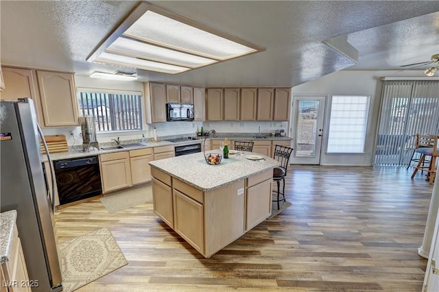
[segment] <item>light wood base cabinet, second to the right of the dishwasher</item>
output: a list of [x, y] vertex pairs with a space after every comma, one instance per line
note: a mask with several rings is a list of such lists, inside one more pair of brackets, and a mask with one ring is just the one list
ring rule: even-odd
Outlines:
[[152, 161], [151, 148], [130, 150], [132, 185], [151, 181], [150, 161]]

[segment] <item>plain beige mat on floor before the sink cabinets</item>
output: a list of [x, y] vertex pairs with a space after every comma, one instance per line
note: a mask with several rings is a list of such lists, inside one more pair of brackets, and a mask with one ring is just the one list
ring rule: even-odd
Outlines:
[[143, 203], [151, 203], [152, 186], [141, 186], [121, 193], [107, 195], [101, 198], [101, 202], [109, 213], [119, 212]]

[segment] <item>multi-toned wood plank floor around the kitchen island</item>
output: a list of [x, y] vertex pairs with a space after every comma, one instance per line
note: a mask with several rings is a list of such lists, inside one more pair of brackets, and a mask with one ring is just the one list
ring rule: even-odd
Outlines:
[[433, 186], [399, 167], [294, 166], [292, 206], [203, 258], [152, 204], [109, 214], [99, 199], [56, 212], [60, 241], [109, 228], [128, 265], [84, 291], [421, 291]]

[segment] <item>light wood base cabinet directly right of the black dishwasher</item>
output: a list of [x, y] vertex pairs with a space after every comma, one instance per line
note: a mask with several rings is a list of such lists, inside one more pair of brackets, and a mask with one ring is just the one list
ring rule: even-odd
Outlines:
[[102, 193], [116, 191], [132, 185], [130, 156], [128, 151], [101, 154], [99, 156]]

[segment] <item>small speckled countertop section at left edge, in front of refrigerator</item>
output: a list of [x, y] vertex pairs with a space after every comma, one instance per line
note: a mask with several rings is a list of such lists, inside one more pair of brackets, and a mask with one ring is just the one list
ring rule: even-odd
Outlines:
[[6, 263], [9, 260], [15, 221], [16, 210], [2, 212], [0, 214], [0, 264]]

